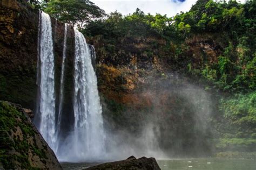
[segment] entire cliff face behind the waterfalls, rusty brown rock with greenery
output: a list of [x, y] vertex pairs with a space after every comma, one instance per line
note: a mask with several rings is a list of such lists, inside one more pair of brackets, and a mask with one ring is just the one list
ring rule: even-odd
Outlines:
[[[255, 113], [256, 58], [248, 36], [240, 33], [237, 40], [227, 30], [182, 37], [172, 27], [150, 27], [143, 15], [137, 13], [130, 21], [112, 17], [82, 30], [96, 47], [104, 126], [116, 134], [110, 140], [133, 143], [150, 129], [151, 140], [170, 156], [211, 154], [215, 143], [221, 144], [221, 151], [236, 150], [232, 146], [240, 143], [241, 150], [255, 148], [250, 114]], [[0, 98], [35, 110], [39, 13], [24, 1], [3, 0], [0, 16]], [[57, 88], [64, 24], [52, 19], [52, 31]], [[69, 27], [62, 125], [66, 131], [73, 123], [73, 34]], [[232, 96], [242, 92], [252, 94]]]

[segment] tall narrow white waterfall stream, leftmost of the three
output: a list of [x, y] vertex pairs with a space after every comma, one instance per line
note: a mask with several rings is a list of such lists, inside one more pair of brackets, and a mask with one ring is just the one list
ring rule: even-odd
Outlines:
[[56, 143], [55, 130], [55, 66], [53, 55], [53, 41], [51, 18], [41, 12], [38, 36], [38, 75], [37, 84], [37, 127], [49, 146]]

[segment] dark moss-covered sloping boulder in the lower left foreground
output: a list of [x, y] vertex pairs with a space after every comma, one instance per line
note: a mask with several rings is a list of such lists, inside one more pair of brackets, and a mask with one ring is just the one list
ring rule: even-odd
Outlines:
[[0, 168], [62, 169], [25, 111], [21, 105], [0, 101]]

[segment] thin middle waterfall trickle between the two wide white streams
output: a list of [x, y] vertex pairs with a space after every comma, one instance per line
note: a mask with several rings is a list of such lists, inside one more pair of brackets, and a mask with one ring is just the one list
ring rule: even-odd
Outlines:
[[[65, 31], [64, 31], [64, 42], [63, 42], [63, 55], [62, 55], [62, 72], [60, 74], [60, 93], [59, 93], [59, 109], [58, 109], [58, 120], [57, 120], [57, 127], [56, 127], [56, 135], [59, 139], [60, 133], [60, 121], [62, 118], [62, 107], [63, 107], [63, 90], [64, 90], [64, 73], [65, 73], [65, 60], [66, 60], [66, 34], [68, 33], [68, 24], [65, 24]], [[58, 149], [59, 140], [57, 140], [56, 144], [56, 151]]]

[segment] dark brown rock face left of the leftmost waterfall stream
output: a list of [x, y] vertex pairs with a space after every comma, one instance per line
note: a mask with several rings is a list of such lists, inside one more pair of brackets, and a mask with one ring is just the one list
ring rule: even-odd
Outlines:
[[25, 1], [0, 1], [0, 98], [31, 109], [36, 99], [38, 16]]

